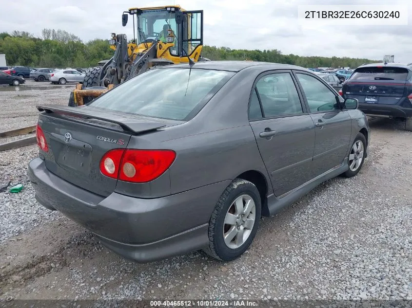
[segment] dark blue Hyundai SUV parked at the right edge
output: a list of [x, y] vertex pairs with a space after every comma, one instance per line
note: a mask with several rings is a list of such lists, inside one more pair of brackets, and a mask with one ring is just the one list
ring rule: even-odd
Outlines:
[[412, 131], [412, 64], [362, 65], [343, 84], [342, 95], [358, 99], [359, 109], [370, 116], [405, 119]]

